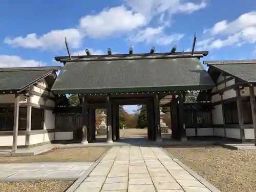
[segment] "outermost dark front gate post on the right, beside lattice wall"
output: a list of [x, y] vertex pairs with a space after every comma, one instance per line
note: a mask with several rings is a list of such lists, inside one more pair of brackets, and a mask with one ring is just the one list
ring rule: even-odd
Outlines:
[[185, 92], [180, 93], [180, 103], [179, 103], [179, 128], [181, 133], [181, 141], [187, 141], [186, 138], [186, 127], [184, 121], [184, 101], [185, 101]]

